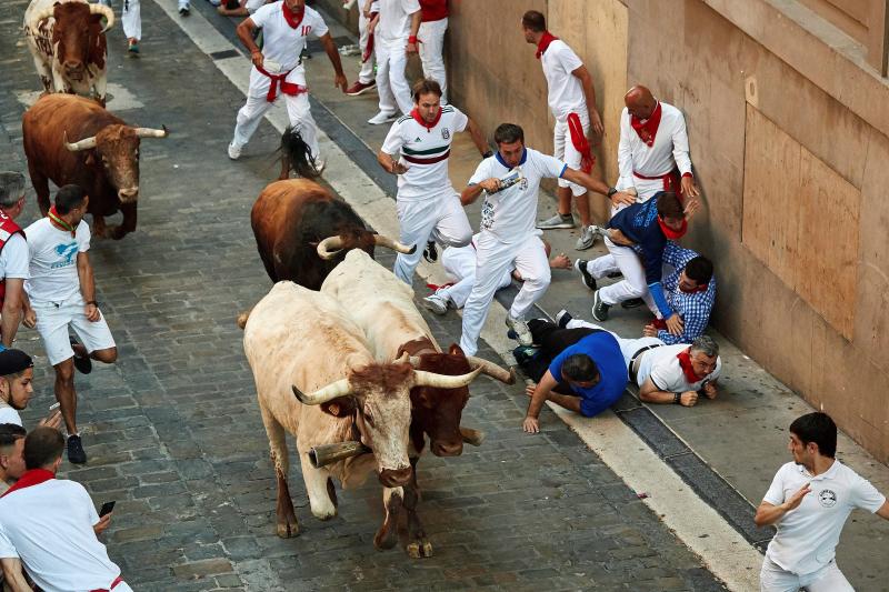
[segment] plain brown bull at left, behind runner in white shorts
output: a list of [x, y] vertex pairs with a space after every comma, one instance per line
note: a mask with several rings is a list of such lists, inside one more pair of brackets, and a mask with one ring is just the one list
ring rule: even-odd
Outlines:
[[[136, 230], [141, 138], [166, 138], [167, 129], [133, 128], [82, 97], [47, 94], [26, 111], [21, 122], [28, 171], [43, 215], [49, 210], [49, 181], [73, 183], [90, 197], [92, 233], [121, 239]], [[104, 217], [121, 211], [119, 227]]]

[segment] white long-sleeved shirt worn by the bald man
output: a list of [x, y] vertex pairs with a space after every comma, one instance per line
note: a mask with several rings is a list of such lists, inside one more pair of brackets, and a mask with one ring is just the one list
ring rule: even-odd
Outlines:
[[651, 147], [630, 126], [630, 113], [626, 107], [620, 113], [618, 189], [635, 187], [633, 171], [646, 177], [660, 177], [678, 168], [680, 174], [691, 174], [686, 118], [679, 109], [663, 101], [660, 101], [660, 124]]

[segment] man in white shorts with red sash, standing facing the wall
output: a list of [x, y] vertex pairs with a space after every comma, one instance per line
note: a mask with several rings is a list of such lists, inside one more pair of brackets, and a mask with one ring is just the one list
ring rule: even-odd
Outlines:
[[[592, 77], [577, 53], [568, 44], [547, 30], [543, 14], [529, 10], [521, 18], [525, 40], [537, 47], [537, 59], [547, 79], [549, 108], [556, 119], [553, 132], [553, 157], [572, 169], [589, 174], [596, 158], [590, 147], [597, 136], [605, 131], [602, 120], [596, 110], [596, 90]], [[575, 228], [571, 215], [571, 195], [575, 197], [580, 213], [580, 238], [576, 248], [579, 251], [592, 247], [596, 239], [590, 218], [589, 194], [586, 188], [559, 179], [559, 211], [543, 220], [537, 228], [543, 230]]]

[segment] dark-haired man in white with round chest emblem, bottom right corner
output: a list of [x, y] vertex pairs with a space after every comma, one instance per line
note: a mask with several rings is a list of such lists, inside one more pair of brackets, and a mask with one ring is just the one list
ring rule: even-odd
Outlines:
[[842, 526], [856, 508], [889, 520], [889, 502], [835, 459], [837, 424], [827, 413], [793, 420], [788, 450], [793, 462], [778, 470], [753, 518], [757, 526], [778, 529], [762, 561], [760, 590], [850, 592], [836, 562]]

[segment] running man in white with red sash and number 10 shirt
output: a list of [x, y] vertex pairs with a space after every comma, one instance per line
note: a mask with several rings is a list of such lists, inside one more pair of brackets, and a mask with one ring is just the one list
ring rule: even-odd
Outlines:
[[[253, 41], [253, 31], [258, 27], [262, 28], [262, 50]], [[333, 86], [346, 92], [346, 74], [342, 73], [337, 46], [321, 14], [307, 7], [306, 0], [279, 0], [266, 4], [238, 26], [238, 39], [250, 51], [253, 68], [250, 70], [247, 103], [238, 111], [234, 137], [229, 144], [230, 159], [240, 158], [262, 116], [278, 96], [283, 94], [290, 124], [309, 146], [316, 169], [323, 169], [318, 128], [309, 109], [306, 69], [300, 59], [310, 34], [321, 40], [333, 64]]]

